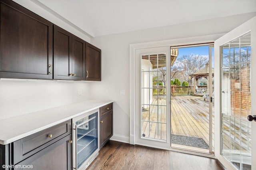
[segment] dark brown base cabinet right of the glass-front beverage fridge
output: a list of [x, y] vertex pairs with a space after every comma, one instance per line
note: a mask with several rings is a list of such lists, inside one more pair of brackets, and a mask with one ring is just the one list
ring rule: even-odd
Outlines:
[[113, 103], [100, 107], [100, 148], [113, 136]]

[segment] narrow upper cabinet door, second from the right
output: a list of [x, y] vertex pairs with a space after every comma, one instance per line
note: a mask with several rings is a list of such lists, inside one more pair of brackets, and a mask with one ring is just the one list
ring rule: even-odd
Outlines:
[[72, 51], [73, 80], [85, 80], [85, 41], [73, 35]]

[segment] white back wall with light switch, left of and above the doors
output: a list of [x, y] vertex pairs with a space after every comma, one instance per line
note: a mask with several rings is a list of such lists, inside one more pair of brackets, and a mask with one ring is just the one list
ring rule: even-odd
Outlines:
[[[102, 82], [93, 84], [91, 87], [94, 91], [92, 97], [115, 101], [114, 136], [112, 139], [129, 142], [130, 44], [222, 34], [229, 32], [255, 15], [256, 13], [242, 14], [93, 38], [92, 43], [102, 49]], [[126, 90], [126, 95], [119, 95], [120, 89]]]

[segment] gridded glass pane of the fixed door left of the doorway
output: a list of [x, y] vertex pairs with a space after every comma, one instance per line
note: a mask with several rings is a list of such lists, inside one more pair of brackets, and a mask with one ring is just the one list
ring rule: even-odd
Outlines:
[[167, 141], [166, 54], [141, 55], [141, 138]]

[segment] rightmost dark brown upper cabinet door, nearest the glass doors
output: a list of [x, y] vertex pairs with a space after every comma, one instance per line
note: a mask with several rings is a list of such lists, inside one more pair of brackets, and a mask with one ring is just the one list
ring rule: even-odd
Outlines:
[[101, 81], [101, 50], [86, 42], [86, 80]]

